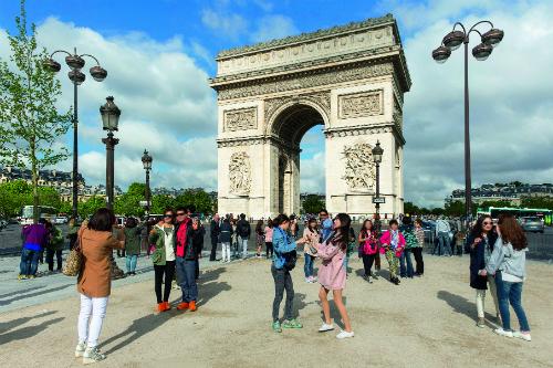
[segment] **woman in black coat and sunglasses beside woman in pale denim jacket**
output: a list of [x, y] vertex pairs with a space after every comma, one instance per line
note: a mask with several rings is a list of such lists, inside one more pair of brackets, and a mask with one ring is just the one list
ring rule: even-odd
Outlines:
[[[495, 318], [499, 319], [499, 303], [495, 288], [495, 278], [492, 275], [480, 275], [480, 270], [486, 269], [493, 252], [498, 234], [493, 230], [493, 221], [490, 215], [480, 217], [467, 238], [466, 251], [470, 253], [470, 287], [477, 291], [476, 304], [478, 315], [478, 327], [486, 327], [484, 299], [486, 291], [489, 288], [495, 306]], [[499, 320], [498, 320], [499, 322]]]

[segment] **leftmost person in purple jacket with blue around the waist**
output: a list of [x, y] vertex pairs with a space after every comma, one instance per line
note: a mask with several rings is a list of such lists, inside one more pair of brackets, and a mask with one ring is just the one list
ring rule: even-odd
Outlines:
[[21, 250], [18, 280], [32, 280], [36, 277], [40, 253], [43, 251], [48, 241], [45, 223], [45, 219], [40, 219], [39, 223], [25, 225], [21, 230], [23, 249]]

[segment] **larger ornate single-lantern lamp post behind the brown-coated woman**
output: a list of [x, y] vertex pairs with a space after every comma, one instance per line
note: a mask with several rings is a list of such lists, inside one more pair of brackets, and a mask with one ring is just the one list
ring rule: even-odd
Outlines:
[[107, 208], [113, 211], [114, 203], [114, 150], [119, 139], [113, 137], [113, 132], [118, 130], [121, 109], [113, 102], [113, 97], [106, 98], [105, 105], [100, 107], [102, 115], [102, 124], [104, 130], [107, 130], [107, 138], [103, 138], [102, 143], [105, 144], [106, 149], [106, 202]]

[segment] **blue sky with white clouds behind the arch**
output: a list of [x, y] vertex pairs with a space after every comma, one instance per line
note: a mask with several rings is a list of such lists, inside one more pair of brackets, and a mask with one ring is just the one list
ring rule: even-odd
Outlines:
[[[0, 1], [0, 29], [13, 30], [18, 0]], [[413, 78], [405, 96], [406, 200], [441, 206], [463, 187], [462, 50], [446, 64], [430, 52], [451, 24], [492, 20], [505, 38], [486, 62], [470, 59], [473, 182], [553, 181], [552, 1], [335, 0], [28, 0], [29, 19], [49, 50], [92, 53], [108, 71], [80, 88], [80, 170], [105, 181], [98, 107], [108, 95], [122, 108], [116, 182], [144, 178], [144, 148], [154, 156], [154, 186], [217, 188], [215, 75], [218, 51], [393, 13]], [[486, 30], [484, 30], [486, 31]], [[471, 46], [479, 43], [477, 36]], [[0, 36], [0, 57], [7, 57]], [[88, 65], [91, 66], [91, 65]], [[60, 78], [60, 108], [72, 86]], [[301, 190], [324, 191], [324, 137], [302, 140]], [[71, 138], [65, 138], [71, 148]], [[70, 170], [71, 162], [60, 166]]]

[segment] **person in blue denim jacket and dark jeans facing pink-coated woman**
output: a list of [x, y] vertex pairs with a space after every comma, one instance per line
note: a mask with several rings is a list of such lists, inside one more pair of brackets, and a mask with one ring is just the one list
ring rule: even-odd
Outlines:
[[[273, 324], [275, 333], [282, 333], [282, 328], [302, 328], [293, 316], [294, 284], [292, 282], [292, 271], [295, 266], [298, 245], [304, 244], [305, 239], [293, 241], [289, 234], [290, 218], [283, 213], [274, 219], [273, 248], [274, 256], [271, 265], [271, 274], [274, 281], [274, 299], [272, 307]], [[284, 304], [284, 322], [279, 319], [279, 311], [282, 298], [286, 291], [286, 301]]]

